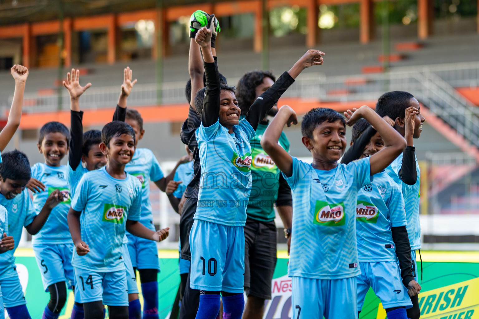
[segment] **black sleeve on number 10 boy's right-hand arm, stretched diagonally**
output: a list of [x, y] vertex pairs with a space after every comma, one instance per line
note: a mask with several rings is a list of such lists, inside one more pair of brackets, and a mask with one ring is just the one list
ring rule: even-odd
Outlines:
[[278, 102], [278, 99], [285, 93], [285, 91], [295, 82], [295, 79], [284, 72], [276, 82], [256, 98], [251, 104], [250, 110], [246, 113], [245, 119], [248, 121], [256, 131], [258, 124], [262, 121], [271, 108]]

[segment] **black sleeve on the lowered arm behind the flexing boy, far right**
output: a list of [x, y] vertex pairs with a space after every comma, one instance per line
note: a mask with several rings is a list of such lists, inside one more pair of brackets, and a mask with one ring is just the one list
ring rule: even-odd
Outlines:
[[411, 280], [414, 280], [411, 267], [411, 244], [409, 243], [406, 226], [392, 227], [392, 240], [396, 246], [399, 268], [401, 269], [402, 284], [408, 287]]

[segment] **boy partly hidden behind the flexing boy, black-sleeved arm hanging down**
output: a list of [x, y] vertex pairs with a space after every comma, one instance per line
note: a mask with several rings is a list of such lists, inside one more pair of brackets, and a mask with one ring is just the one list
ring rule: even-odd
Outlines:
[[[349, 113], [345, 115], [349, 117]], [[388, 122], [394, 124], [390, 119]], [[351, 146], [343, 156], [343, 164], [376, 154], [384, 148], [384, 141], [365, 119], [361, 119], [353, 126]], [[417, 295], [421, 286], [412, 275], [402, 193], [386, 170], [377, 173], [373, 182], [359, 191], [356, 234], [361, 269], [357, 277], [358, 312], [372, 287], [388, 319], [407, 319], [406, 308], [412, 307], [410, 296]]]

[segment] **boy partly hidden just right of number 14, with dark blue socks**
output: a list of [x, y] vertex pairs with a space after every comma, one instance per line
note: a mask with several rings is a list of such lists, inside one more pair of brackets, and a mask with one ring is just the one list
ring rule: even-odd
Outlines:
[[[143, 118], [137, 110], [126, 110], [125, 122], [131, 125], [137, 137], [138, 143], [145, 134], [143, 129]], [[125, 166], [128, 174], [136, 176], [141, 182], [141, 216], [140, 222], [148, 229], [154, 231], [153, 214], [149, 200], [150, 181], [153, 181], [161, 191], [166, 190], [166, 185], [174, 177], [178, 165], [187, 162], [183, 157], [168, 176], [163, 174], [160, 163], [155, 154], [148, 148], [137, 148], [131, 162]], [[126, 232], [128, 237], [128, 252], [134, 269], [138, 269], [141, 281], [141, 292], [143, 295], [143, 319], [159, 319], [158, 315], [158, 272], [160, 264], [158, 259], [158, 247], [155, 242], [139, 238]]]

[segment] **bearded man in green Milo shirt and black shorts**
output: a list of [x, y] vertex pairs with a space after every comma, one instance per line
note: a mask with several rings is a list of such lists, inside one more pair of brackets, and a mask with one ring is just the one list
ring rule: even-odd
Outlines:
[[[270, 88], [274, 81], [275, 78], [269, 71], [251, 71], [241, 77], [236, 89], [241, 114], [246, 114], [254, 100]], [[274, 116], [277, 111], [278, 107], [275, 105], [268, 115]], [[256, 136], [250, 141], [252, 185], [244, 226], [244, 289], [248, 299], [243, 319], [262, 319], [264, 301], [271, 299], [277, 242], [274, 207], [283, 220], [288, 244], [291, 235], [293, 214], [291, 188], [260, 144], [268, 124], [266, 117], [260, 122]], [[289, 141], [284, 132], [281, 133], [279, 143], [289, 152]]]

